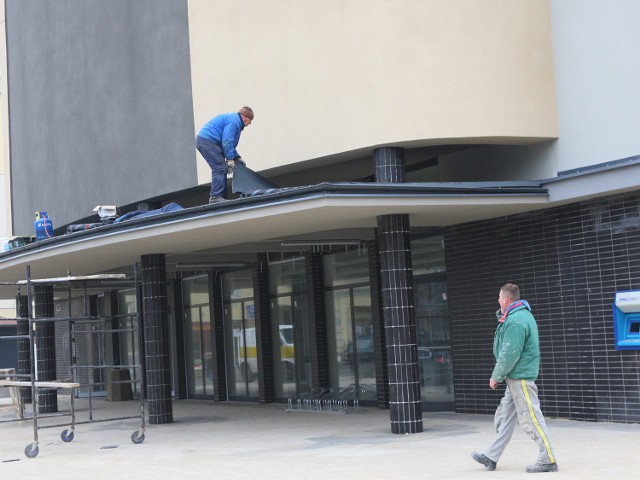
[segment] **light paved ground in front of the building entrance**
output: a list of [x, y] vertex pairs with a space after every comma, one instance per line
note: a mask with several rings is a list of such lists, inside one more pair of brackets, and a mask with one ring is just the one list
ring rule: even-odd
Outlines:
[[[88, 418], [77, 401], [78, 421]], [[139, 402], [94, 400], [94, 418], [136, 415]], [[31, 407], [28, 406], [28, 412]], [[62, 405], [61, 405], [62, 408]], [[15, 416], [0, 405], [0, 420]], [[287, 413], [284, 405], [174, 402], [174, 423], [147, 425], [145, 441], [132, 432], [140, 418], [39, 430], [36, 458], [25, 457], [33, 423], [0, 424], [0, 474], [32, 480], [76, 479], [518, 479], [537, 447], [518, 429], [494, 472], [470, 458], [493, 438], [488, 415], [425, 414], [425, 431], [390, 432], [389, 412]], [[51, 419], [49, 419], [51, 420]], [[47, 420], [48, 421], [48, 420]], [[66, 417], [57, 418], [66, 421]], [[548, 419], [558, 479], [632, 479], [640, 466], [640, 425]]]

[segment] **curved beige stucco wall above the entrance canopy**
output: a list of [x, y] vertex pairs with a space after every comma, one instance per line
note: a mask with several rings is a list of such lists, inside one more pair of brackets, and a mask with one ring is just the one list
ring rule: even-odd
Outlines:
[[196, 130], [251, 105], [256, 170], [557, 136], [546, 0], [189, 0], [189, 27]]

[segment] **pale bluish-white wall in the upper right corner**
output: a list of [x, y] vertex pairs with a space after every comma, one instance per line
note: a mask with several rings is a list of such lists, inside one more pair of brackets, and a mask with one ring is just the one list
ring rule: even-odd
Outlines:
[[552, 0], [559, 172], [640, 154], [640, 2]]

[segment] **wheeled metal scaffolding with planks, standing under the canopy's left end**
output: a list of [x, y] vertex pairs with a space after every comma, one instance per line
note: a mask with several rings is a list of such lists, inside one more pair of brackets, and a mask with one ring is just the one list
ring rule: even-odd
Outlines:
[[[33, 442], [28, 444], [24, 453], [28, 458], [34, 458], [39, 453], [38, 430], [42, 428], [54, 428], [63, 426], [65, 429], [60, 434], [60, 438], [64, 442], [71, 442], [74, 438], [76, 425], [94, 422], [108, 422], [125, 419], [140, 418], [140, 426], [131, 434], [131, 441], [134, 444], [140, 444], [145, 439], [145, 410], [144, 410], [144, 375], [141, 363], [141, 345], [142, 337], [139, 321], [139, 282], [137, 274], [137, 266], [134, 265], [133, 278], [124, 274], [99, 274], [88, 276], [71, 276], [67, 272], [65, 277], [33, 279], [31, 278], [31, 269], [26, 268], [26, 279], [15, 283], [3, 283], [4, 285], [15, 285], [17, 287], [18, 297], [21, 295], [21, 289], [26, 288], [27, 297], [27, 318], [15, 318], [17, 322], [28, 321], [28, 333], [16, 334], [12, 336], [0, 336], [2, 341], [28, 341], [29, 342], [29, 373], [16, 373], [15, 371], [0, 370], [0, 387], [11, 389], [11, 397], [16, 407], [17, 417], [7, 421], [25, 421], [33, 422]], [[118, 287], [128, 286], [135, 291], [136, 308], [133, 313], [113, 314], [113, 315], [92, 315], [88, 308], [88, 286], [98, 283], [100, 287], [108, 290], [113, 285]], [[37, 286], [50, 286], [52, 289], [66, 287], [68, 312], [66, 316], [39, 316], [36, 314], [34, 307], [34, 288]], [[80, 290], [80, 295], [78, 295]], [[75, 296], [74, 296], [75, 295]], [[74, 298], [82, 299], [84, 311], [80, 315], [72, 315], [72, 301]], [[52, 325], [57, 322], [67, 322], [68, 329], [65, 332], [65, 338], [69, 348], [69, 378], [63, 380], [42, 379], [42, 372], [38, 371], [38, 356], [43, 354], [44, 345], [40, 345], [38, 331], [41, 325]], [[107, 323], [110, 323], [108, 325]], [[105, 335], [117, 335], [124, 337], [131, 343], [137, 345], [129, 355], [126, 355], [128, 362], [113, 361], [106, 362], [104, 358], [98, 358], [98, 362], [83, 362], [86, 355], [83, 355], [83, 346], [100, 346], [105, 343]], [[55, 337], [55, 335], [54, 335]], [[57, 347], [58, 345], [56, 345]], [[104, 351], [104, 349], [103, 349]], [[46, 352], [44, 353], [46, 354]], [[18, 353], [19, 355], [19, 353]], [[98, 379], [94, 378], [98, 372]], [[116, 375], [114, 375], [114, 373]], [[111, 375], [110, 375], [111, 374]], [[45, 375], [46, 376], [46, 375]], [[57, 375], [56, 375], [57, 377]], [[117, 417], [109, 417], [97, 419], [94, 418], [93, 399], [96, 388], [106, 387], [107, 391], [128, 391], [133, 392], [137, 389], [140, 398], [139, 414], [121, 415]], [[24, 400], [22, 392], [28, 388], [31, 392], [32, 413], [29, 417], [25, 414]], [[68, 390], [70, 392], [70, 409], [69, 411], [39, 414], [39, 391], [47, 389], [55, 391], [56, 403], [58, 390]], [[88, 419], [86, 421], [77, 421], [75, 412], [74, 399], [78, 397], [88, 398]], [[130, 395], [131, 399], [133, 395]], [[56, 416], [68, 416], [69, 422], [55, 425], [43, 425], [39, 420]]]

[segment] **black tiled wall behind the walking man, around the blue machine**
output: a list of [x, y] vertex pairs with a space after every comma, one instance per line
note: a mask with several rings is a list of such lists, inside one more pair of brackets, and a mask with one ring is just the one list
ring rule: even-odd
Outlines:
[[549, 416], [640, 422], [640, 352], [617, 351], [612, 303], [640, 289], [640, 193], [446, 229], [456, 411], [493, 413], [499, 288], [517, 283], [540, 330]]

